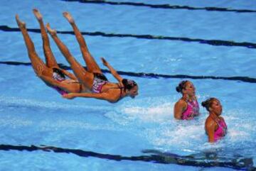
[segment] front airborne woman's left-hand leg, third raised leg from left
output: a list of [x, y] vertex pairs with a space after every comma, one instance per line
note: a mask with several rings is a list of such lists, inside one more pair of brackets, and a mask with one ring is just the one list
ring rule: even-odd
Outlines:
[[68, 60], [70, 67], [72, 68], [72, 70], [75, 74], [75, 77], [77, 77], [79, 82], [84, 84], [85, 87], [87, 87], [88, 89], [91, 89], [93, 77], [94, 77], [93, 74], [90, 72], [87, 72], [82, 67], [82, 65], [80, 65], [80, 63], [77, 60], [75, 60], [75, 57], [73, 57], [73, 55], [71, 55], [68, 48], [58, 38], [56, 31], [50, 28], [49, 23], [46, 25], [46, 29], [47, 29], [48, 33], [50, 33], [50, 36], [53, 38], [53, 40], [55, 41], [58, 48], [60, 49], [60, 52], [64, 55], [66, 60]]

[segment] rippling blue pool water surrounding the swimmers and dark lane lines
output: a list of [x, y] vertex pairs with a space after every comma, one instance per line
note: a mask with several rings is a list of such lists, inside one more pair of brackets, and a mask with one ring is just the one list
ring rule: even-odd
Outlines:
[[[256, 1], [242, 0], [139, 2], [256, 10]], [[70, 11], [83, 32], [256, 42], [255, 12], [152, 9], [60, 0], [27, 0], [22, 4], [18, 0], [4, 0], [0, 5], [1, 26], [10, 28], [17, 28], [16, 13], [26, 22], [27, 28], [39, 28], [32, 13], [36, 7], [43, 14], [44, 22], [49, 22], [57, 31], [72, 31], [62, 16], [63, 11]], [[43, 58], [41, 35], [29, 34], [38, 55]], [[59, 37], [84, 64], [75, 36], [59, 34]], [[85, 35], [85, 38], [102, 69], [106, 68], [100, 57], [105, 57], [114, 68], [123, 72], [256, 78], [255, 48], [135, 37]], [[20, 32], [1, 30], [0, 41], [1, 62], [30, 62]], [[58, 62], [68, 65], [50, 41]], [[201, 163], [208, 163], [211, 160], [205, 155], [209, 152], [218, 155], [214, 160], [217, 163], [246, 158], [256, 162], [256, 84], [253, 82], [190, 79], [196, 86], [200, 103], [215, 96], [223, 104], [228, 136], [210, 145], [203, 128], [207, 117], [205, 109], [201, 108], [201, 116], [195, 121], [174, 120], [174, 104], [180, 98], [175, 87], [182, 78], [122, 75], [137, 81], [139, 96], [110, 104], [97, 99], [63, 99], [36, 77], [30, 65], [0, 64], [0, 72], [0, 170], [249, 169], [234, 165], [218, 167], [218, 164], [215, 167], [177, 165], [176, 162], [164, 164], [164, 160], [154, 158], [154, 155], [164, 156], [167, 160], [174, 155], [192, 155], [201, 158]], [[110, 74], [106, 76], [115, 81]], [[9, 148], [4, 150], [5, 145]], [[31, 145], [39, 148], [31, 148]], [[54, 148], [41, 150], [43, 145]], [[81, 150], [80, 155], [73, 150]], [[134, 160], [132, 156], [148, 156], [150, 160], [144, 157]]]

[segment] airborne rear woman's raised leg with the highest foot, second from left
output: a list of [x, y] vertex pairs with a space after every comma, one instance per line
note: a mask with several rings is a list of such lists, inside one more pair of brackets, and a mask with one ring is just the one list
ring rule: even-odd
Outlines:
[[40, 25], [41, 35], [43, 40], [43, 53], [46, 57], [46, 65], [50, 68], [59, 67], [57, 61], [55, 60], [53, 52], [50, 49], [50, 41], [46, 33], [46, 28], [44, 27], [44, 24], [43, 24], [43, 16], [38, 11], [38, 9], [33, 9], [33, 13], [36, 16], [36, 19], [38, 20], [38, 23]]

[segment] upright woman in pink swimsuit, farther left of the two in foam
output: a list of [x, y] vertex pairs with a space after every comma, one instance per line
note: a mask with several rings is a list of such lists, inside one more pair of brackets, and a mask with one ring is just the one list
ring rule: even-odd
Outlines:
[[182, 81], [176, 87], [177, 92], [181, 92], [182, 97], [174, 106], [174, 118], [181, 120], [191, 120], [199, 115], [199, 105], [196, 100], [195, 87], [188, 80]]

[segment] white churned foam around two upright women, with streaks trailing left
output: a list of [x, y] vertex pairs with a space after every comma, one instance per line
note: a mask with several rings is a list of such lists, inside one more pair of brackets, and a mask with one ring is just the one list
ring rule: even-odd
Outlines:
[[[15, 97], [0, 96], [1, 105], [16, 105], [26, 107], [42, 107], [47, 109], [97, 109], [106, 111], [105, 116], [117, 124], [93, 124], [84, 121], [41, 121], [38, 126], [44, 130], [54, 130], [62, 128], [80, 128], [85, 130], [105, 130], [105, 131], [130, 131], [137, 136], [142, 136], [148, 140], [156, 149], [178, 150], [192, 153], [198, 150], [208, 150], [211, 148], [226, 147], [243, 143], [253, 142], [252, 133], [255, 131], [255, 124], [250, 118], [240, 118], [241, 114], [250, 116], [242, 110], [226, 110], [223, 118], [228, 124], [228, 135], [225, 140], [218, 143], [208, 143], [204, 131], [204, 122], [207, 117], [202, 114], [193, 121], [176, 121], [173, 116], [174, 101], [171, 96], [160, 96], [137, 101], [125, 101], [114, 108], [99, 106], [84, 106], [82, 104], [63, 104], [50, 101], [34, 101], [33, 99], [18, 99]], [[1, 126], [31, 126], [33, 121], [23, 118], [11, 118], [1, 116]], [[242, 138], [241, 138], [242, 137]], [[241, 140], [243, 139], [243, 140]], [[181, 143], [182, 142], [182, 143]], [[237, 148], [234, 145], [232, 148]]]

